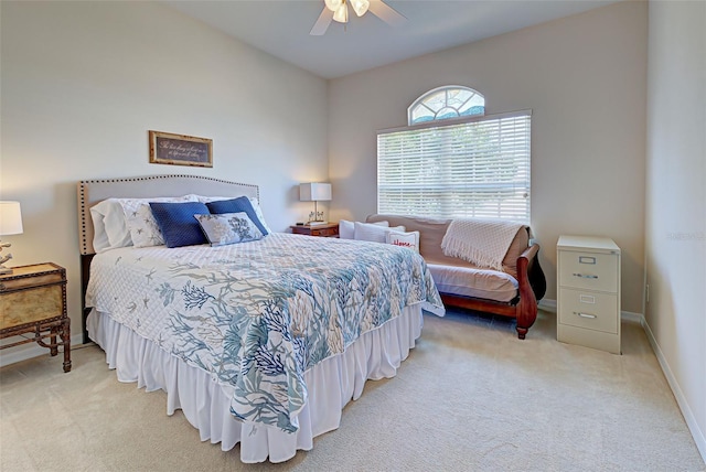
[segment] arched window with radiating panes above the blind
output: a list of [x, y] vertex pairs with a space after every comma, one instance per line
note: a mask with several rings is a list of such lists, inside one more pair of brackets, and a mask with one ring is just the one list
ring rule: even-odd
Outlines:
[[469, 87], [447, 85], [417, 98], [407, 108], [407, 122], [411, 126], [478, 115], [485, 115], [485, 97]]

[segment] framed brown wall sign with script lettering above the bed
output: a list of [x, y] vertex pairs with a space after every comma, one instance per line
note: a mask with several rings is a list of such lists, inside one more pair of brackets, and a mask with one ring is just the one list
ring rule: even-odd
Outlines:
[[212, 139], [151, 130], [149, 135], [151, 163], [213, 167]]

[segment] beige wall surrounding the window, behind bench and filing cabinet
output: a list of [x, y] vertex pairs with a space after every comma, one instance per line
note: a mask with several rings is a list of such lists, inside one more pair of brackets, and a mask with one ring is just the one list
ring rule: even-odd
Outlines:
[[622, 248], [622, 309], [642, 313], [646, 17], [621, 2], [330, 82], [332, 216], [376, 211], [378, 129], [441, 85], [485, 96], [486, 112], [531, 108], [532, 226], [547, 298], [556, 299], [560, 234]]

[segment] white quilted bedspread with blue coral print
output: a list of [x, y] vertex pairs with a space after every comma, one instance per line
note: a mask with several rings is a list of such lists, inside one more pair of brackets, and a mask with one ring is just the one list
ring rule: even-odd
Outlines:
[[443, 314], [424, 259], [291, 234], [98, 254], [86, 304], [235, 388], [237, 418], [298, 429], [304, 372], [408, 305]]

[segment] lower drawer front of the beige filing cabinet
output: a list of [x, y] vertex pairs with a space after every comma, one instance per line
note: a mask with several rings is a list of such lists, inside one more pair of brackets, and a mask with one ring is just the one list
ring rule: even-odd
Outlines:
[[559, 290], [559, 323], [618, 333], [618, 296], [586, 290]]

